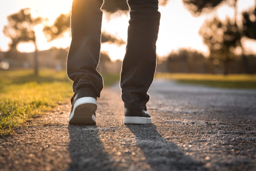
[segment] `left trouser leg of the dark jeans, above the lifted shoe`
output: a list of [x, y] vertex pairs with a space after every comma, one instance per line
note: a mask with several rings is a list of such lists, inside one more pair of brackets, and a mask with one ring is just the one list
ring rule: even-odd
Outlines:
[[87, 87], [100, 97], [103, 80], [96, 70], [100, 57], [103, 0], [73, 0], [72, 41], [67, 57], [67, 75], [73, 91]]

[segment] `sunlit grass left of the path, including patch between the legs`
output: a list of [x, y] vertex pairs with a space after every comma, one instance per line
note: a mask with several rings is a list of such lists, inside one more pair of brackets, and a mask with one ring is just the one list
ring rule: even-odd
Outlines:
[[[72, 82], [65, 71], [44, 69], [38, 76], [32, 70], [0, 71], [0, 136], [29, 118], [52, 111], [60, 103], [69, 103]], [[119, 74], [103, 74], [104, 85], [119, 80]]]

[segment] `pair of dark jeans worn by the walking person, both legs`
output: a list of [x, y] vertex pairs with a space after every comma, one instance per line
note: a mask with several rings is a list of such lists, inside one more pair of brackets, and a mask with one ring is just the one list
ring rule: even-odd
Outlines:
[[[130, 20], [120, 86], [124, 107], [144, 108], [156, 68], [156, 41], [160, 12], [158, 0], [128, 0]], [[100, 57], [103, 0], [73, 0], [72, 41], [67, 57], [67, 74], [78, 87], [91, 88], [97, 97], [103, 79], [97, 71]]]

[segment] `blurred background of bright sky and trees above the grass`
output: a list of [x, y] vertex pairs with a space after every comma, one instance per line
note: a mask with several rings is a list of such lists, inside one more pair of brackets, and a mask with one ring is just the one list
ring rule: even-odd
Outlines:
[[[255, 0], [160, 0], [157, 72], [256, 73]], [[65, 70], [72, 0], [1, 2], [1, 70]], [[98, 70], [119, 73], [129, 7], [105, 0]]]

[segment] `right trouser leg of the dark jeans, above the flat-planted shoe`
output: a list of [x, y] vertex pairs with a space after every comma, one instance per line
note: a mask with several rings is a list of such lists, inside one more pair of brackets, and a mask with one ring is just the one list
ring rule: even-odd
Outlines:
[[156, 68], [156, 40], [160, 12], [158, 0], [128, 0], [130, 20], [120, 86], [124, 107], [142, 109]]

